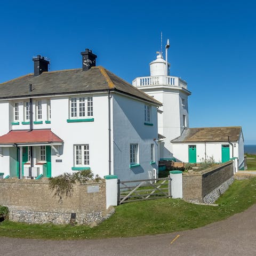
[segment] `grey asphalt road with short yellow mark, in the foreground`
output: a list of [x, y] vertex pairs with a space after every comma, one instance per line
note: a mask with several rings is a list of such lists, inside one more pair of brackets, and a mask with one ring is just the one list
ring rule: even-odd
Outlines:
[[194, 230], [156, 236], [83, 241], [0, 238], [0, 255], [256, 255], [256, 204], [243, 213]]

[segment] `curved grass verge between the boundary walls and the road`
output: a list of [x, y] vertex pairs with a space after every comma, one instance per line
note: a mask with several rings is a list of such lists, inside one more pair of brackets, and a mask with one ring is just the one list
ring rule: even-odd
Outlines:
[[0, 236], [43, 239], [91, 239], [170, 233], [193, 229], [246, 210], [256, 203], [256, 178], [235, 180], [217, 203], [205, 206], [182, 199], [156, 199], [116, 207], [116, 213], [98, 227], [28, 225], [3, 221]]

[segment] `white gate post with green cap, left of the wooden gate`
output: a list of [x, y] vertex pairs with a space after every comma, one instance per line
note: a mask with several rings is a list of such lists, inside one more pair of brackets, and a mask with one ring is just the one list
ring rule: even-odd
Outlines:
[[117, 175], [104, 176], [106, 181], [106, 208], [117, 205]]

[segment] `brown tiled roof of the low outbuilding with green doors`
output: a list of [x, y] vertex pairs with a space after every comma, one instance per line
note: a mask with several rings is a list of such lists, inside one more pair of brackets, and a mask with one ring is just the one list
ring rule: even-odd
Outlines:
[[228, 137], [229, 141], [238, 141], [241, 132], [241, 126], [186, 128], [171, 142], [225, 142]]

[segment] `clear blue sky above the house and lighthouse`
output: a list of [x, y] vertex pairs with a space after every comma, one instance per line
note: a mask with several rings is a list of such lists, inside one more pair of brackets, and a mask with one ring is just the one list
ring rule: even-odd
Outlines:
[[33, 55], [51, 70], [97, 65], [128, 82], [170, 39], [170, 74], [188, 82], [189, 125], [242, 126], [256, 144], [254, 1], [2, 1], [0, 83], [33, 72]]

